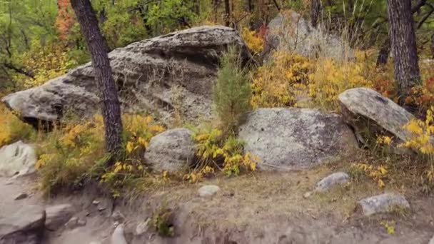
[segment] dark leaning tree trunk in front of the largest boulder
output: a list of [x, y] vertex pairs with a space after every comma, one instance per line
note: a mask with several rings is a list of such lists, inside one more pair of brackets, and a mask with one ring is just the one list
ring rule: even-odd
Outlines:
[[[107, 55], [109, 48], [99, 30], [98, 20], [90, 1], [71, 0], [71, 6], [76, 13], [81, 31], [91, 53], [94, 75], [101, 93], [106, 150], [111, 153], [112, 159], [114, 159], [121, 151], [122, 121], [118, 91], [111, 74], [109, 56]], [[110, 163], [113, 163], [113, 160]]]

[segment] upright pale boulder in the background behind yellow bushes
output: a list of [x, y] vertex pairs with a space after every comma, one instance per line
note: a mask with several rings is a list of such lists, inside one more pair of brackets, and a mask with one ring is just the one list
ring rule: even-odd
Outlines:
[[280, 13], [268, 24], [266, 50], [293, 51], [308, 57], [353, 59], [354, 52], [338, 36], [315, 29], [294, 11]]

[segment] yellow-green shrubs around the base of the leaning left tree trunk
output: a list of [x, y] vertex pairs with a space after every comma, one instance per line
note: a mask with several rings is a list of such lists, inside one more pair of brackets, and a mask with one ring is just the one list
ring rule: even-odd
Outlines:
[[94, 116], [85, 122], [69, 122], [57, 126], [39, 145], [36, 168], [41, 187], [48, 194], [61, 187], [79, 187], [89, 179], [107, 185], [114, 196], [119, 189], [146, 173], [141, 156], [149, 140], [164, 128], [151, 116], [124, 115], [123, 160], [106, 167], [109, 156], [104, 153], [104, 122]]

